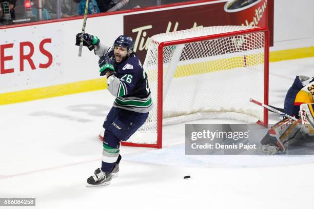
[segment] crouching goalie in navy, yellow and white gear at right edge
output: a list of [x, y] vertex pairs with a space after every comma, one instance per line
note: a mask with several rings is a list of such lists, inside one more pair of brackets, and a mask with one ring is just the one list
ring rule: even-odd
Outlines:
[[296, 120], [284, 117], [270, 128], [261, 140], [264, 153], [285, 152], [289, 144], [314, 139], [314, 77], [299, 75], [288, 90], [284, 112]]

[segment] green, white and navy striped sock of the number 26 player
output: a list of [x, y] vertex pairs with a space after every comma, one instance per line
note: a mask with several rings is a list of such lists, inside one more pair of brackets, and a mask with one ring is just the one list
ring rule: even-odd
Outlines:
[[110, 173], [119, 157], [119, 149], [108, 147], [103, 143], [102, 171]]

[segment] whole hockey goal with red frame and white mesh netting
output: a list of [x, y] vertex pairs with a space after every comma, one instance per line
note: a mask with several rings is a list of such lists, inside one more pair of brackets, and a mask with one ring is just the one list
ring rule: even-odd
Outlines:
[[[154, 109], [124, 145], [162, 146], [162, 126], [200, 119], [268, 123], [268, 31], [214, 26], [150, 38], [144, 70]], [[265, 62], [266, 60], [266, 62]]]

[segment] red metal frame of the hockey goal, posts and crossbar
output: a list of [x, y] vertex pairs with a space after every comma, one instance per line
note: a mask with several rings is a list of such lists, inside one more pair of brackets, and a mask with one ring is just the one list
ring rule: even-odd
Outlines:
[[[225, 26], [228, 27], [228, 26]], [[236, 27], [236, 26], [229, 26], [229, 27]], [[239, 27], [241, 28], [241, 27]], [[190, 29], [193, 30], [193, 29]], [[186, 30], [189, 31], [189, 30]], [[178, 32], [178, 31], [177, 31]], [[158, 43], [158, 58], [156, 58], [157, 61], [157, 66], [158, 66], [158, 74], [157, 74], [157, 79], [151, 81], [149, 80], [149, 85], [151, 85], [151, 82], [155, 82], [157, 81], [157, 91], [156, 91], [156, 100], [155, 101], [155, 105], [157, 106], [156, 108], [156, 141], [154, 143], [147, 143], [144, 142], [142, 143], [141, 141], [136, 141], [134, 142], [132, 139], [130, 140], [130, 142], [122, 142], [122, 145], [129, 145], [129, 146], [135, 146], [135, 147], [151, 147], [151, 148], [162, 148], [162, 130], [163, 130], [163, 89], [164, 89], [164, 67], [165, 67], [165, 48], [169, 47], [169, 46], [179, 46], [179, 45], [186, 45], [189, 43], [202, 43], [202, 41], [213, 41], [213, 40], [218, 40], [218, 39], [223, 39], [223, 38], [229, 38], [229, 37], [245, 37], [246, 36], [250, 36], [250, 34], [256, 34], [256, 33], [262, 33], [263, 35], [263, 48], [264, 48], [264, 54], [263, 54], [263, 58], [264, 58], [264, 65], [263, 65], [263, 74], [264, 74], [264, 78], [263, 78], [263, 101], [265, 105], [268, 105], [268, 80], [269, 80], [269, 30], [267, 27], [246, 27], [243, 30], [236, 30], [236, 31], [231, 31], [231, 32], [223, 32], [223, 33], [218, 33], [218, 34], [209, 34], [209, 35], [202, 35], [202, 36], [197, 36], [197, 37], [188, 37], [188, 38], [178, 38], [178, 39], [173, 39], [173, 40], [167, 40], [167, 41], [162, 41], [160, 43], [158, 43], [158, 41], [155, 41], [155, 44]], [[246, 36], [245, 36], [246, 35]], [[242, 38], [243, 38], [242, 37]], [[152, 42], [154, 41], [153, 37], [152, 37]], [[241, 41], [240, 41], [241, 42]], [[245, 41], [244, 41], [245, 42]], [[251, 49], [254, 47], [254, 43], [252, 43], [253, 41], [247, 41], [248, 43], [248, 48]], [[253, 47], [252, 47], [253, 46]], [[230, 47], [230, 46], [228, 46]], [[259, 47], [260, 48], [260, 47]], [[248, 51], [249, 49], [245, 49], [246, 51]], [[230, 49], [228, 49], [229, 51], [227, 51], [227, 54], [232, 54], [230, 53]], [[244, 50], [244, 51], [245, 51]], [[233, 51], [232, 51], [233, 52]], [[237, 51], [238, 53], [238, 51]], [[172, 55], [170, 55], [172, 56]], [[180, 55], [180, 59], [182, 59], [183, 55]], [[194, 55], [193, 55], [194, 56]], [[147, 67], [146, 62], [147, 62], [147, 57], [145, 59], [144, 62], [144, 70], [145, 67]], [[250, 61], [250, 60], [248, 60]], [[246, 55], [244, 55], [244, 67], [246, 67]], [[189, 64], [190, 65], [190, 64]], [[252, 64], [253, 65], [253, 64]], [[149, 74], [148, 74], [148, 78], [149, 78]], [[151, 89], [152, 90], [152, 89]], [[154, 90], [152, 90], [154, 91]], [[153, 98], [155, 99], [155, 98]], [[247, 101], [249, 102], [249, 101]], [[261, 124], [262, 126], [267, 127], [268, 126], [268, 110], [264, 109], [263, 111], [263, 118], [259, 119], [257, 121], [257, 123]], [[237, 112], [237, 111], [236, 111]], [[153, 113], [152, 113], [153, 114]], [[150, 121], [152, 122], [152, 121]], [[143, 132], [143, 130], [142, 130]], [[144, 131], [145, 132], [145, 131]], [[142, 134], [143, 135], [143, 134]], [[145, 135], [145, 133], [144, 133]], [[136, 137], [136, 135], [135, 135]], [[142, 136], [143, 137], [143, 136]], [[151, 136], [147, 136], [147, 137], [151, 137]], [[145, 138], [145, 136], [144, 136]]]

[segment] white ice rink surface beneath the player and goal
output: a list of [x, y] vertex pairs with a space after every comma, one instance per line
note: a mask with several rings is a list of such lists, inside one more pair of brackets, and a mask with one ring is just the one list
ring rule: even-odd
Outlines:
[[[312, 76], [314, 58], [270, 64], [271, 105], [283, 107], [298, 74]], [[186, 156], [184, 124], [164, 127], [162, 150], [122, 147], [120, 176], [86, 188], [112, 101], [95, 91], [0, 106], [0, 197], [36, 198], [36, 208], [314, 207], [313, 156]]]

